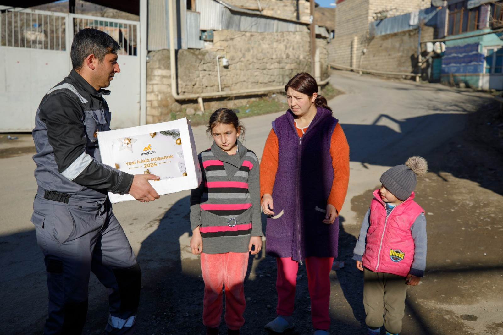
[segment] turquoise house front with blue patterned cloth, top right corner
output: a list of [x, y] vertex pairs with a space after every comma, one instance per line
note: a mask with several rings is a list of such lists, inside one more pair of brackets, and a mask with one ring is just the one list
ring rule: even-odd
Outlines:
[[453, 0], [438, 15], [439, 38], [447, 40], [441, 81], [478, 90], [503, 90], [503, 1]]

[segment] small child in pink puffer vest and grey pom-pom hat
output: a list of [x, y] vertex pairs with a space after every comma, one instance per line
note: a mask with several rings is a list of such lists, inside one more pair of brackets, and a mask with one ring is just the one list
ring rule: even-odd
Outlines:
[[363, 271], [363, 304], [369, 335], [380, 334], [383, 324], [386, 335], [400, 332], [405, 284], [417, 285], [424, 275], [425, 211], [412, 199], [417, 176], [427, 171], [427, 161], [419, 156], [410, 157], [405, 165], [391, 167], [382, 174], [381, 188], [374, 191], [363, 219], [353, 259]]

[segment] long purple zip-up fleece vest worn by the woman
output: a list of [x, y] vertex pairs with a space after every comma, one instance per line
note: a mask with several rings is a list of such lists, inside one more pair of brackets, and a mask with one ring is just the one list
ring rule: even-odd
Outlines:
[[337, 257], [339, 217], [333, 224], [322, 222], [333, 182], [330, 141], [337, 122], [318, 107], [302, 138], [290, 110], [273, 122], [279, 159], [272, 194], [276, 218], [267, 219], [268, 255], [294, 261]]

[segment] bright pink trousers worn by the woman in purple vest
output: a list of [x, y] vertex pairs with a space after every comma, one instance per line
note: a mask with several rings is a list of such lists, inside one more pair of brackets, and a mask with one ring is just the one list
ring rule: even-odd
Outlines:
[[[328, 305], [330, 302], [330, 278], [333, 257], [307, 257], [307, 287], [311, 298], [311, 319], [313, 327], [328, 329], [330, 315]], [[276, 258], [278, 265], [278, 278], [276, 291], [278, 291], [278, 315], [292, 315], [295, 301], [295, 286], [297, 285], [297, 271], [299, 264], [290, 257]]]

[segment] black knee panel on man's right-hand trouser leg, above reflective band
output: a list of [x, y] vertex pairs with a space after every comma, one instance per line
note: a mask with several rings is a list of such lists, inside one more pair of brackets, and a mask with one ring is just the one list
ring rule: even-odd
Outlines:
[[119, 286], [121, 311], [133, 311], [140, 304], [141, 269], [138, 264], [127, 269], [114, 269]]

